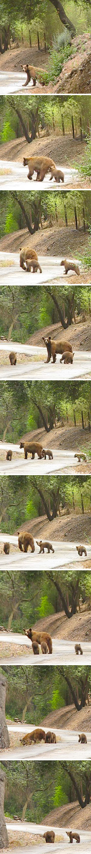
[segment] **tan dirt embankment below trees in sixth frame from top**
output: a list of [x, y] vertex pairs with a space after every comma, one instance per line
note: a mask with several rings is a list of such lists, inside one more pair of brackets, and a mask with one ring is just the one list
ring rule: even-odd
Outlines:
[[[30, 519], [28, 522], [20, 525], [20, 530], [27, 530], [32, 533], [37, 540], [41, 539], [72, 541], [72, 542], [90, 542], [91, 541], [91, 513], [76, 513], [72, 512], [67, 515], [61, 515], [48, 522], [47, 516], [40, 516], [35, 519]], [[18, 534], [18, 530], [14, 531]], [[77, 552], [76, 552], [77, 554]], [[84, 561], [84, 568], [87, 566], [87, 561]], [[43, 569], [43, 556], [42, 556]]]

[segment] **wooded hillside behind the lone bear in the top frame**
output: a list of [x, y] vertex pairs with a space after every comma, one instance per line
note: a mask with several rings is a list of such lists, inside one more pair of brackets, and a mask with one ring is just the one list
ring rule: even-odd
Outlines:
[[63, 3], [60, 3], [60, 0], [59, 3], [57, 0], [45, 0], [44, 3], [42, 0], [31, 0], [30, 3], [28, 0], [26, 8], [25, 0], [23, 3], [21, 0], [20, 3], [15, 0], [14, 8], [11, 0], [7, 3], [2, 0], [1, 67], [5, 55], [7, 69], [14, 70], [16, 60], [20, 70], [20, 62], [24, 64], [27, 61], [28, 53], [28, 61], [31, 56], [31, 63], [42, 68], [43, 81], [47, 86], [61, 75], [66, 61], [68, 68], [69, 59], [75, 63], [76, 56], [79, 61], [79, 50], [80, 61], [83, 60], [83, 51], [87, 59], [90, 53], [90, 33], [90, 0], [63, 0]]

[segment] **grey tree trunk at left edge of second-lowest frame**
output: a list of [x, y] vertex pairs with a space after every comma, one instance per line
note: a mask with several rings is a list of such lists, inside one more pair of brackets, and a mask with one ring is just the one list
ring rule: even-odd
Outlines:
[[6, 679], [0, 674], [0, 749], [10, 747], [9, 732], [5, 717]]

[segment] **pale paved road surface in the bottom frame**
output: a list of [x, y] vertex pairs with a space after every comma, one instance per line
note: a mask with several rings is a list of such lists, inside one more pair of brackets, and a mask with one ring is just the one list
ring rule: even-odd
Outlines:
[[[48, 825], [45, 825], [45, 824], [32, 824], [30, 822], [20, 822], [20, 821], [19, 822], [8, 822], [8, 821], [6, 821], [6, 826], [7, 826], [8, 832], [9, 832], [9, 830], [12, 829], [13, 833], [16, 830], [19, 830], [21, 833], [24, 833], [24, 834], [27, 831], [27, 833], [30, 833], [30, 834], [41, 834], [41, 835], [43, 835], [45, 830], [48, 830], [48, 829], [54, 830], [55, 838], [58, 837], [61, 839], [61, 841], [57, 841], [57, 842], [54, 841], [54, 854], [55, 854], [55, 852], [56, 852], [56, 854], [60, 854], [60, 851], [64, 851], [64, 854], [65, 854], [66, 851], [69, 851], [69, 847], [68, 847], [69, 846], [69, 839], [66, 836], [65, 828], [57, 828], [57, 827], [54, 827], [54, 825], [49, 825], [49, 827], [48, 827]], [[74, 829], [75, 828], [72, 825], [72, 830], [74, 831]], [[69, 827], [67, 825], [66, 825], [66, 830], [69, 830]], [[79, 830], [78, 830], [78, 833], [79, 833]], [[80, 832], [80, 838], [81, 838], [80, 854], [82, 854], [82, 852], [85, 852], [85, 854], [89, 854], [89, 852], [91, 851], [91, 832], [88, 830], [81, 831]], [[74, 850], [75, 850], [75, 845], [77, 845], [77, 843], [75, 844], [75, 842], [74, 842], [73, 845], [74, 845]], [[14, 851], [14, 854], [17, 851], [19, 851], [19, 854], [20, 854], [21, 848], [20, 847], [19, 847], [19, 849], [14, 848], [13, 851]], [[31, 854], [37, 854], [37, 851], [39, 852], [39, 854], [53, 854], [52, 844], [49, 845], [49, 843], [48, 843], [48, 845], [47, 845], [47, 843], [46, 843], [46, 845], [45, 845], [44, 839], [43, 839], [43, 845], [38, 845], [38, 848], [37, 848], [37, 845], [31, 845], [31, 848], [27, 848], [27, 847], [25, 848], [26, 854], [27, 854], [27, 851], [31, 851]]]

